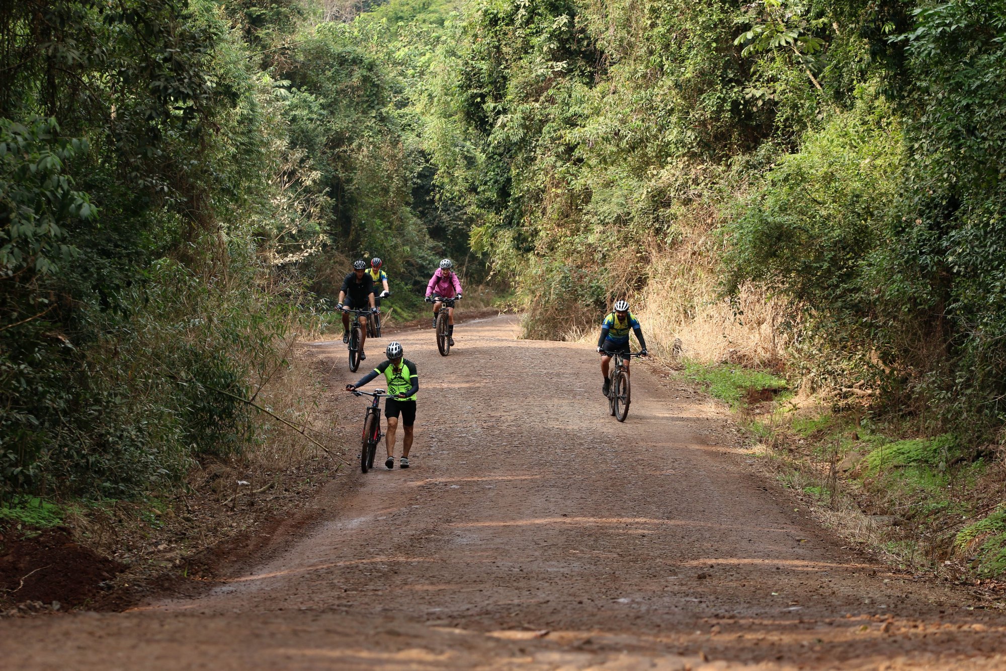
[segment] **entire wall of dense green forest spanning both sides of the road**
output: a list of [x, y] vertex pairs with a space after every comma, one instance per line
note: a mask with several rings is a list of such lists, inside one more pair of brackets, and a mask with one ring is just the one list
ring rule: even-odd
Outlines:
[[993, 437], [1004, 38], [977, 0], [7, 3], [0, 491], [239, 450], [363, 254], [485, 260], [541, 337], [758, 287], [815, 384]]

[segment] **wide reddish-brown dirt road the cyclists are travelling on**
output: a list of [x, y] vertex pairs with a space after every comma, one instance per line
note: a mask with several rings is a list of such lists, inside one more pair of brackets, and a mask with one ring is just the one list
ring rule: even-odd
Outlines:
[[[0, 667], [1006, 668], [1006, 617], [845, 549], [714, 444], [707, 402], [637, 364], [620, 424], [590, 349], [515, 325], [459, 325], [447, 359], [396, 336], [412, 468], [340, 476], [199, 597], [0, 621]], [[363, 401], [333, 398], [354, 440]]]

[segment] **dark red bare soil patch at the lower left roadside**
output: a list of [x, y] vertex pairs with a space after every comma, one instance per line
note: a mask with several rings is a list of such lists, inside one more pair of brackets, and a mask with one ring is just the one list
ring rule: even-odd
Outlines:
[[5, 546], [0, 555], [0, 592], [14, 602], [79, 606], [98, 597], [102, 583], [125, 568], [58, 530], [8, 541]]

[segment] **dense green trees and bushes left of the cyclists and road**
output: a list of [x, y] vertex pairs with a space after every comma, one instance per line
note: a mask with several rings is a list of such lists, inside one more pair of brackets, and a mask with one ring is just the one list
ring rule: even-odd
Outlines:
[[425, 163], [390, 58], [376, 30], [312, 16], [300, 0], [0, 16], [0, 501], [131, 498], [239, 455], [264, 435], [242, 399], [318, 324], [347, 258], [382, 257], [402, 294], [436, 267], [430, 231], [455, 220], [410, 209]]

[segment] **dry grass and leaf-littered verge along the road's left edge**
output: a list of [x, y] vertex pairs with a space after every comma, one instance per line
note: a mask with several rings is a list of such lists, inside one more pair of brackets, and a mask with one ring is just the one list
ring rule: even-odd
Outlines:
[[[194, 465], [180, 488], [129, 501], [67, 506], [55, 531], [93, 550], [96, 557], [119, 562], [123, 570], [103, 581], [98, 596], [87, 602], [53, 592], [45, 603], [120, 609], [165, 579], [200, 579], [212, 572], [213, 548], [289, 515], [344, 468], [348, 448], [336, 440], [333, 418], [319, 407], [330, 365], [296, 345], [288, 362], [268, 379], [255, 402], [301, 427], [310, 439], [261, 413], [259, 431], [240, 455]], [[6, 533], [0, 529], [0, 544], [10, 549], [19, 538], [30, 541], [35, 535], [27, 528]], [[39, 568], [26, 578], [24, 591], [32, 581], [44, 582], [46, 571], [59, 570], [43, 564]], [[12, 608], [17, 602], [17, 594], [0, 593], [0, 613], [25, 613]]]

